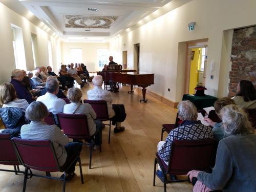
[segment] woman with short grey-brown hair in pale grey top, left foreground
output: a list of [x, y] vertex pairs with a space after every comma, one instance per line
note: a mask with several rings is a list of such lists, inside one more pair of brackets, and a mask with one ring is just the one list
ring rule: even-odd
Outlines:
[[[45, 139], [53, 142], [53, 147], [59, 162], [62, 166], [65, 162], [69, 162], [76, 155], [80, 155], [82, 144], [77, 142], [69, 142], [69, 138], [63, 134], [56, 125], [48, 125], [44, 122], [48, 116], [48, 110], [42, 102], [32, 102], [26, 110], [27, 117], [31, 120], [30, 124], [22, 126], [20, 137], [22, 139]], [[77, 161], [66, 170], [68, 174], [66, 179], [70, 181], [75, 175], [75, 166]]]

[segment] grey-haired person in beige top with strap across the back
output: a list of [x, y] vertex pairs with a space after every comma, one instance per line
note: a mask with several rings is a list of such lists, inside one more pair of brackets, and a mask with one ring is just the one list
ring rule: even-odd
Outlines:
[[64, 106], [63, 113], [86, 114], [90, 136], [93, 136], [96, 132], [98, 132], [97, 135], [95, 135], [94, 149], [96, 150], [101, 145], [102, 122], [99, 120], [94, 120], [96, 119], [96, 113], [89, 103], [80, 103], [82, 98], [82, 91], [80, 89], [69, 89], [67, 96], [71, 103]]

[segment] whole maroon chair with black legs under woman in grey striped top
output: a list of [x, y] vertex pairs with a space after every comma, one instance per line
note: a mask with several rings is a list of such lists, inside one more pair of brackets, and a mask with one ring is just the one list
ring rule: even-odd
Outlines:
[[[13, 143], [20, 162], [26, 167], [23, 192], [26, 190], [27, 178], [31, 178], [32, 176], [61, 180], [63, 181], [62, 191], [65, 191], [66, 173], [63, 174], [63, 178], [51, 177], [50, 173], [65, 172], [65, 170], [67, 170], [67, 168], [69, 168], [69, 166], [71, 166], [76, 160], [79, 162], [81, 183], [83, 184], [82, 167], [79, 154], [74, 156], [69, 162], [65, 162], [64, 165], [60, 166], [53, 143], [49, 140], [28, 140], [14, 137]], [[46, 172], [46, 176], [33, 174], [31, 169]]]

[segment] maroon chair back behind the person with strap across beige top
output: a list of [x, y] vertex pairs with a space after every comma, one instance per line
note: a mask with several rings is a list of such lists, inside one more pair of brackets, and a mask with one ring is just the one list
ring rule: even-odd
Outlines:
[[87, 116], [84, 114], [57, 114], [59, 126], [72, 139], [91, 139]]

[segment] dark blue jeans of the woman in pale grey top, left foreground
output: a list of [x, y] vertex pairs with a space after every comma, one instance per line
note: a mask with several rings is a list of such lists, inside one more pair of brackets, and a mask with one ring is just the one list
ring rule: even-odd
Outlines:
[[[67, 151], [68, 157], [66, 161], [71, 161], [75, 156], [80, 156], [80, 152], [82, 150], [82, 143], [71, 142], [65, 145], [65, 149]], [[67, 174], [72, 174], [75, 172], [77, 160], [66, 170]]]

